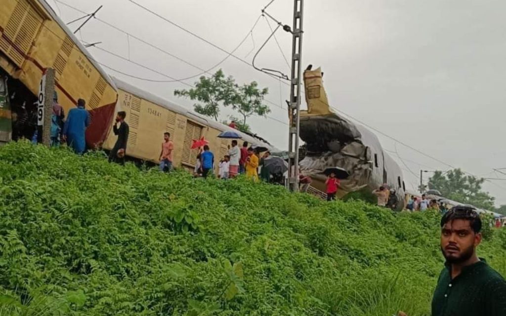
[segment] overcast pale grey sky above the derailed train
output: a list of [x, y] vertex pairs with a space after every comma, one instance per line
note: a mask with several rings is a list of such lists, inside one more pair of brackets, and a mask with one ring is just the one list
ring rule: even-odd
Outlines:
[[[130, 35], [92, 19], [77, 33], [78, 38], [102, 42], [90, 52], [126, 75], [106, 69], [109, 73], [189, 109], [193, 102], [175, 97], [174, 90], [189, 88], [186, 84], [198, 77], [182, 82], [150, 80], [198, 75], [228, 56], [130, 0], [47, 1], [65, 22], [83, 14], [63, 3], [87, 13], [103, 5], [97, 18]], [[271, 34], [264, 17], [250, 32], [268, 0], [134, 1], [227, 52], [247, 37], [234, 53], [246, 63], [229, 57], [210, 72], [222, 68], [237, 83], [255, 80], [268, 87], [266, 104], [272, 112], [267, 118], [247, 122], [273, 145], [287, 148], [284, 100], [289, 98], [289, 86], [250, 65]], [[506, 2], [500, 0], [305, 1], [302, 65], [322, 67], [334, 108], [444, 162], [376, 133], [403, 169], [408, 190], [416, 191], [420, 169], [448, 170], [452, 166], [479, 177], [506, 178], [493, 170], [506, 168], [504, 10]], [[274, 0], [267, 12], [291, 25], [293, 1]], [[79, 24], [69, 27], [74, 30]], [[282, 29], [275, 34], [290, 62], [291, 34]], [[272, 38], [256, 64], [289, 74], [280, 48]], [[222, 110], [221, 119], [231, 114]], [[424, 173], [424, 182], [430, 175]], [[483, 189], [496, 198], [497, 205], [506, 204], [506, 181], [488, 180]]]

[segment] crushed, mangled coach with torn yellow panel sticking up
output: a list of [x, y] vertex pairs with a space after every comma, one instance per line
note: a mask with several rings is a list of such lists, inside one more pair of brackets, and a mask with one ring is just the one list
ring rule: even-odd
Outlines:
[[374, 133], [333, 112], [322, 83], [321, 69], [304, 72], [307, 111], [300, 113], [300, 136], [306, 143], [301, 172], [313, 178], [312, 186], [325, 190], [329, 167], [346, 169], [350, 176], [341, 180], [338, 197], [351, 192], [370, 195], [387, 183], [396, 191], [398, 209], [403, 208], [405, 184], [399, 165], [382, 149]]

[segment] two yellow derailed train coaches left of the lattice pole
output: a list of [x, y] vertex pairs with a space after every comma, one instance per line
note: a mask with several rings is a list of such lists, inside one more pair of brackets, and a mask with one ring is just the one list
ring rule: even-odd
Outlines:
[[[123, 110], [130, 124], [126, 153], [132, 158], [157, 162], [165, 131], [175, 143], [176, 166], [193, 168], [198, 152], [190, 147], [202, 137], [217, 158], [228, 150], [230, 140], [217, 136], [230, 127], [110, 77], [45, 0], [2, 0], [0, 6], [0, 142], [31, 137], [40, 80], [50, 67], [56, 70], [55, 91], [66, 113], [77, 99], [87, 101], [89, 148], [113, 147], [113, 119]], [[237, 132], [243, 141], [275, 150], [262, 139]]]

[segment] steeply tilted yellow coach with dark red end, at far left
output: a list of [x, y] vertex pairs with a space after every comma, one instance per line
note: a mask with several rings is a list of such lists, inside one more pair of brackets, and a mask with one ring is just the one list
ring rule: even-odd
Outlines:
[[14, 79], [8, 82], [19, 80], [35, 98], [50, 67], [56, 70], [59, 103], [68, 112], [77, 99], [85, 99], [93, 118], [88, 145], [101, 144], [117, 100], [112, 80], [45, 0], [0, 0], [0, 72]]

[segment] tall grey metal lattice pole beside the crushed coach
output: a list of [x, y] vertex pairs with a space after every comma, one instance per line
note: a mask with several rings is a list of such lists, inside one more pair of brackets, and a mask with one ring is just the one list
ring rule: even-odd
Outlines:
[[[299, 130], [301, 110], [302, 18], [304, 0], [293, 1], [292, 54], [290, 78], [288, 189], [299, 191]], [[291, 166], [294, 166], [293, 170]], [[292, 172], [293, 171], [293, 172]]]

